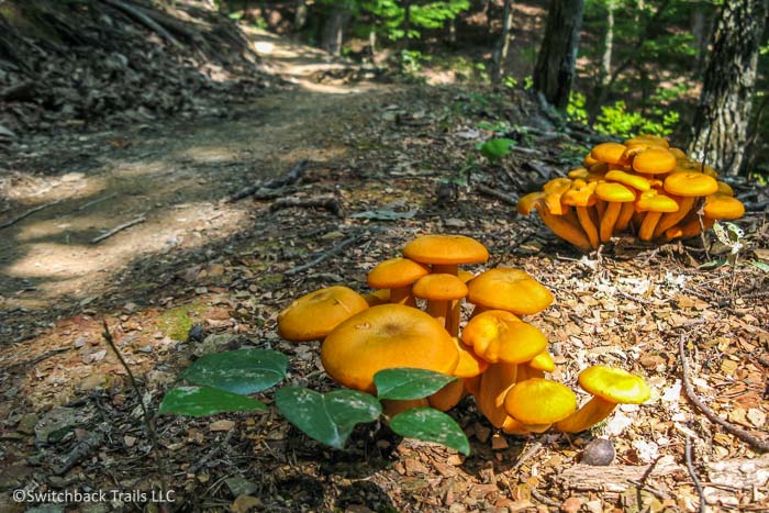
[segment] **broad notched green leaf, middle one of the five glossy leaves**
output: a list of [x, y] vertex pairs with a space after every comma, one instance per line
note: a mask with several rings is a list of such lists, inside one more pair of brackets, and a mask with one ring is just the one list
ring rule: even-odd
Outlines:
[[275, 393], [278, 411], [308, 436], [337, 449], [353, 427], [376, 421], [382, 408], [377, 398], [356, 390], [320, 393], [301, 387], [283, 387]]

